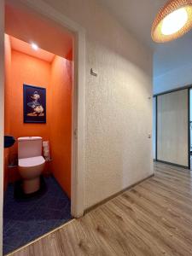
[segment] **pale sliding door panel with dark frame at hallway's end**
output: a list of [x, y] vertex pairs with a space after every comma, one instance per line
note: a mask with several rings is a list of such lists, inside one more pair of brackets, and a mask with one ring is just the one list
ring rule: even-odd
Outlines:
[[156, 95], [155, 158], [189, 169], [189, 88]]

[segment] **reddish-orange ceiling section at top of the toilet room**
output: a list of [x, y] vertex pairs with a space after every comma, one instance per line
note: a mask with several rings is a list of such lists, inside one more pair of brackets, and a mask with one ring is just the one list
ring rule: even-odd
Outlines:
[[35, 42], [40, 49], [64, 58], [70, 58], [73, 49], [72, 32], [15, 1], [6, 1], [5, 32], [26, 43]]

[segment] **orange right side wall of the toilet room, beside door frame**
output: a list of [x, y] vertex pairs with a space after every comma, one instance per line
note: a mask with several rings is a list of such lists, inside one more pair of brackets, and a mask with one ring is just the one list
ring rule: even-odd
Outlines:
[[55, 56], [51, 65], [50, 146], [51, 170], [61, 187], [71, 195], [72, 62]]

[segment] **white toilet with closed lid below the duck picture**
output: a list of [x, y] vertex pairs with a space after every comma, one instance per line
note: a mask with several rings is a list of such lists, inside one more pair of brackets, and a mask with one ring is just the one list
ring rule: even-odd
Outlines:
[[18, 138], [18, 165], [26, 194], [38, 191], [40, 175], [44, 171], [45, 160], [42, 156], [42, 137]]

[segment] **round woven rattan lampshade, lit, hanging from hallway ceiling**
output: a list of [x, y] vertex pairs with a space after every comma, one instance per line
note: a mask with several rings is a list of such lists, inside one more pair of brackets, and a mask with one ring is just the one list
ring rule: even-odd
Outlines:
[[[176, 18], [173, 22], [173, 26], [178, 26], [176, 32], [164, 33], [163, 29], [165, 26], [165, 21], [172, 18]], [[173, 17], [174, 15], [174, 17]], [[183, 24], [179, 27], [179, 15], [183, 15]], [[184, 16], [185, 15], [185, 16]], [[185, 19], [185, 20], [184, 20]], [[156, 43], [165, 43], [172, 41], [174, 39], [180, 38], [186, 32], [192, 28], [192, 0], [169, 0], [166, 5], [160, 9], [160, 12], [154, 20], [152, 26], [151, 36]]]

